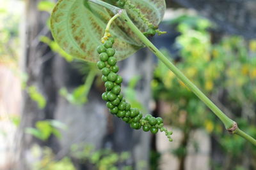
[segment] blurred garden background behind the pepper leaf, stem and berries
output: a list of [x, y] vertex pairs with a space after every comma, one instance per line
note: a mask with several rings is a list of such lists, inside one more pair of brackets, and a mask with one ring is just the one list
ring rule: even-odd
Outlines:
[[[52, 40], [56, 1], [0, 0], [0, 169], [256, 169], [256, 148], [146, 48], [119, 62], [133, 107], [173, 131], [134, 131], [108, 113], [95, 64]], [[256, 137], [256, 1], [166, 0], [152, 42]]]

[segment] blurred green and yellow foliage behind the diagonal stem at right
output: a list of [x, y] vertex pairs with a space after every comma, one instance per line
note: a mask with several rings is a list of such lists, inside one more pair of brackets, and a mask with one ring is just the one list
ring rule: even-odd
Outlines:
[[[180, 47], [180, 57], [173, 59], [163, 49], [164, 54], [241, 129], [256, 136], [256, 40], [224, 36], [212, 44], [211, 23], [204, 18], [182, 16], [169, 23], [176, 24], [180, 32], [175, 44]], [[256, 159], [256, 148], [237, 136], [223, 135], [227, 132], [221, 122], [162, 62], [154, 71], [152, 89], [156, 100], [170, 103], [165, 122], [182, 129], [183, 143], [173, 151], [177, 157], [186, 155], [184, 140], [203, 127], [234, 161], [228, 167], [242, 166], [244, 150], [251, 155], [248, 159]]]

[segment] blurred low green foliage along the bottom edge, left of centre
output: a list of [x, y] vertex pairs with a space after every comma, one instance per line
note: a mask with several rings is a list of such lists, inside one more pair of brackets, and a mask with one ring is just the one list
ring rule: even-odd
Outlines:
[[[40, 158], [34, 163], [35, 169], [42, 170], [74, 170], [76, 167], [69, 157], [63, 157], [56, 160], [56, 155], [52, 153], [51, 148], [40, 148], [35, 145], [31, 149], [35, 158]], [[93, 145], [76, 144], [70, 148], [69, 155], [73, 160], [79, 159], [81, 164], [89, 163], [99, 170], [131, 170], [131, 166], [118, 167], [118, 164], [126, 164], [125, 162], [130, 159], [129, 152], [115, 153], [110, 149], [97, 150]]]

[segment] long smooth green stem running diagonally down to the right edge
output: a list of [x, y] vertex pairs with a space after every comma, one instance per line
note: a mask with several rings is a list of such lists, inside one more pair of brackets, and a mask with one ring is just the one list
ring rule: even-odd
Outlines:
[[[225, 125], [226, 129], [232, 128], [236, 122], [234, 120], [230, 119], [223, 113], [212, 101], [204, 95], [204, 93], [201, 92], [201, 90], [198, 89], [177, 67], [175, 67], [170, 60], [168, 60], [163, 53], [161, 53], [156, 46], [154, 46], [148, 39], [143, 35], [143, 33], [136, 27], [136, 25], [133, 24], [131, 19], [128, 17], [125, 10], [122, 10], [122, 13], [120, 15], [120, 18], [126, 22], [126, 24], [130, 27], [130, 29], [140, 38], [140, 40], [158, 57], [159, 60], [161, 60], [191, 91], [193, 91], [196, 96], [199, 97], [212, 111], [213, 113], [220, 118], [221, 122]], [[250, 137], [248, 138], [248, 134], [244, 133], [240, 129], [234, 129], [234, 133], [238, 134], [239, 136], [242, 136], [244, 139], [247, 139], [248, 141], [252, 142], [254, 145], [256, 145], [255, 139]]]

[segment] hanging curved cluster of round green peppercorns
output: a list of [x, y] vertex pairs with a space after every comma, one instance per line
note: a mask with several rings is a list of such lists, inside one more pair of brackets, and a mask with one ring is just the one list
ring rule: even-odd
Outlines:
[[97, 67], [102, 72], [102, 81], [105, 82], [106, 92], [102, 94], [102, 99], [106, 101], [106, 106], [110, 113], [118, 118], [122, 118], [124, 122], [130, 124], [133, 129], [143, 129], [145, 132], [156, 134], [158, 131], [165, 132], [166, 136], [172, 141], [172, 132], [167, 131], [163, 127], [163, 119], [161, 117], [152, 117], [147, 114], [143, 117], [138, 108], [131, 108], [131, 104], [127, 103], [121, 93], [122, 76], [117, 72], [119, 67], [116, 66], [115, 49], [112, 48], [115, 39], [110, 37], [104, 41], [103, 45], [97, 47], [100, 61]]

